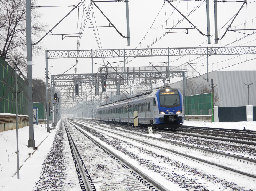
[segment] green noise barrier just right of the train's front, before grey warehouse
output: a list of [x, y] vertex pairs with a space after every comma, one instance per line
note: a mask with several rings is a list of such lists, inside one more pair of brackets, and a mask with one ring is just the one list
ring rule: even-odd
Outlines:
[[185, 96], [185, 118], [213, 122], [212, 93]]

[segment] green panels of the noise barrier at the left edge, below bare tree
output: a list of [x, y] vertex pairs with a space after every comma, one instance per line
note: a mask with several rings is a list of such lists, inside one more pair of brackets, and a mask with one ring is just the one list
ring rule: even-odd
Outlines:
[[[15, 103], [15, 95], [8, 89], [9, 86], [11, 86], [15, 78], [10, 75], [7, 79], [6, 83], [3, 84], [3, 81], [8, 77], [9, 73], [11, 72], [13, 68], [5, 61], [2, 57], [0, 57], [0, 113], [16, 113], [16, 103]], [[24, 85], [24, 80], [21, 78], [18, 78], [18, 82], [21, 86]], [[18, 92], [20, 91], [20, 86], [18, 87]], [[15, 85], [11, 87], [11, 90], [15, 92]], [[23, 90], [27, 93], [27, 86], [23, 88]], [[6, 94], [6, 92], [8, 92]], [[6, 95], [5, 95], [6, 94]], [[3, 97], [5, 95], [5, 97]], [[18, 94], [18, 114], [22, 115], [28, 115], [28, 99], [25, 97], [25, 94], [23, 91], [21, 91]]]

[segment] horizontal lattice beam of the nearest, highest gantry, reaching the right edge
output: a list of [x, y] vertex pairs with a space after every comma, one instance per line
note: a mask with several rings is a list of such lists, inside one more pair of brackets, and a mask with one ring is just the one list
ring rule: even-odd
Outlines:
[[191, 47], [157, 49], [104, 49], [104, 50], [48, 50], [47, 58], [118, 58], [184, 55], [238, 55], [256, 54], [256, 46]]

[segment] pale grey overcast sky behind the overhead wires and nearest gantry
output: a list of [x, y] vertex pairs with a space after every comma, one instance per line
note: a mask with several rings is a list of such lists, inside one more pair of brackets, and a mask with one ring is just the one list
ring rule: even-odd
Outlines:
[[[41, 6], [67, 6], [76, 5], [80, 1], [65, 1], [65, 0], [38, 0], [37, 5]], [[165, 48], [165, 47], [215, 47], [215, 46], [255, 46], [256, 32], [256, 14], [255, 7], [256, 1], [249, 0], [245, 7], [239, 12], [238, 16], [231, 25], [231, 29], [255, 29], [247, 31], [228, 31], [224, 38], [218, 44], [214, 42], [214, 3], [211, 0], [210, 5], [210, 34], [211, 44], [207, 44], [207, 37], [201, 35], [196, 29], [189, 29], [188, 34], [184, 33], [184, 29], [175, 29], [176, 33], [168, 33], [163, 38], [161, 36], [166, 32], [166, 28], [191, 28], [188, 21], [183, 20], [174, 8], [164, 0], [130, 0], [129, 1], [129, 18], [130, 18], [130, 36], [131, 46], [127, 46], [127, 39], [122, 38], [113, 27], [95, 28], [98, 42], [101, 44], [102, 49], [133, 49], [133, 48], [146, 48], [148, 45], [151, 48]], [[90, 1], [85, 1], [85, 7], [88, 11]], [[206, 5], [205, 1], [178, 1], [172, 4], [185, 16], [191, 23], [193, 23], [203, 34], [207, 34], [207, 20], [206, 20]], [[202, 5], [201, 5], [202, 4]], [[238, 12], [243, 2], [218, 2], [218, 37], [222, 36], [232, 21], [232, 17]], [[124, 2], [98, 2], [98, 7], [104, 12], [108, 19], [115, 25], [115, 27], [127, 36], [126, 29], [126, 7]], [[201, 5], [201, 6], [200, 6]], [[59, 22], [73, 7], [42, 7], [38, 8], [41, 12], [42, 18], [39, 22], [48, 23], [47, 32], [57, 22]], [[195, 9], [196, 8], [196, 9]], [[84, 16], [83, 16], [84, 15]], [[93, 26], [109, 26], [109, 22], [93, 6], [90, 12], [91, 22]], [[77, 33], [80, 31], [81, 25], [84, 25], [86, 19], [86, 11], [84, 6], [75, 9], [61, 24], [53, 29], [53, 34], [68, 34]], [[166, 21], [167, 20], [167, 21]], [[80, 41], [80, 50], [84, 49], [99, 49], [96, 42], [93, 28], [90, 21], [85, 25], [83, 35]], [[194, 28], [194, 27], [192, 27]], [[179, 32], [179, 33], [177, 33]], [[242, 34], [246, 33], [246, 34]], [[42, 33], [42, 36], [45, 33]], [[251, 35], [247, 35], [251, 34]], [[63, 40], [61, 35], [46, 36], [41, 45], [46, 47], [46, 50], [76, 50], [77, 37], [68, 37], [76, 35], [66, 35]], [[160, 39], [161, 38], [161, 39]], [[239, 40], [242, 38], [241, 40]], [[160, 40], [158, 40], [160, 39]], [[34, 39], [32, 41], [38, 41]], [[194, 60], [195, 57], [170, 57], [170, 65], [177, 66], [185, 64], [186, 62], [195, 63], [194, 67], [200, 72], [206, 71], [206, 57]], [[256, 70], [254, 55], [242, 56], [212, 56], [209, 57], [209, 71], [220, 69], [222, 67], [232, 65], [235, 63], [241, 64], [235, 67], [229, 67], [226, 70]], [[253, 59], [249, 62], [246, 60]], [[226, 60], [226, 61], [225, 61]], [[107, 58], [108, 62], [123, 61], [122, 58]], [[222, 62], [224, 61], [224, 62]], [[94, 59], [93, 62], [104, 64], [102, 59]], [[149, 62], [155, 62], [155, 65], [167, 62], [167, 57], [145, 57], [136, 58], [127, 67], [131, 66], [148, 66]], [[218, 64], [216, 63], [218, 62]], [[75, 65], [76, 59], [49, 59], [48, 65], [55, 66], [49, 67], [49, 72], [53, 75], [61, 74], [70, 68], [70, 65]], [[113, 64], [117, 66], [118, 63]], [[64, 67], [59, 67], [64, 66]], [[100, 65], [94, 64], [93, 72], [98, 71]], [[188, 68], [191, 70], [191, 67]], [[68, 73], [73, 73], [71, 69]], [[91, 59], [79, 59], [77, 73], [91, 73]], [[33, 78], [45, 78], [45, 54], [33, 57]]]

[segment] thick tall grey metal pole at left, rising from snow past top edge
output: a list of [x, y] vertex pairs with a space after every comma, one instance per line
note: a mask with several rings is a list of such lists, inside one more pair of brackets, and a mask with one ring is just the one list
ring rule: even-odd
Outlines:
[[28, 115], [29, 115], [29, 147], [35, 148], [33, 124], [33, 93], [32, 93], [32, 40], [31, 40], [31, 1], [26, 0], [26, 38], [27, 38], [27, 70], [28, 70]]

